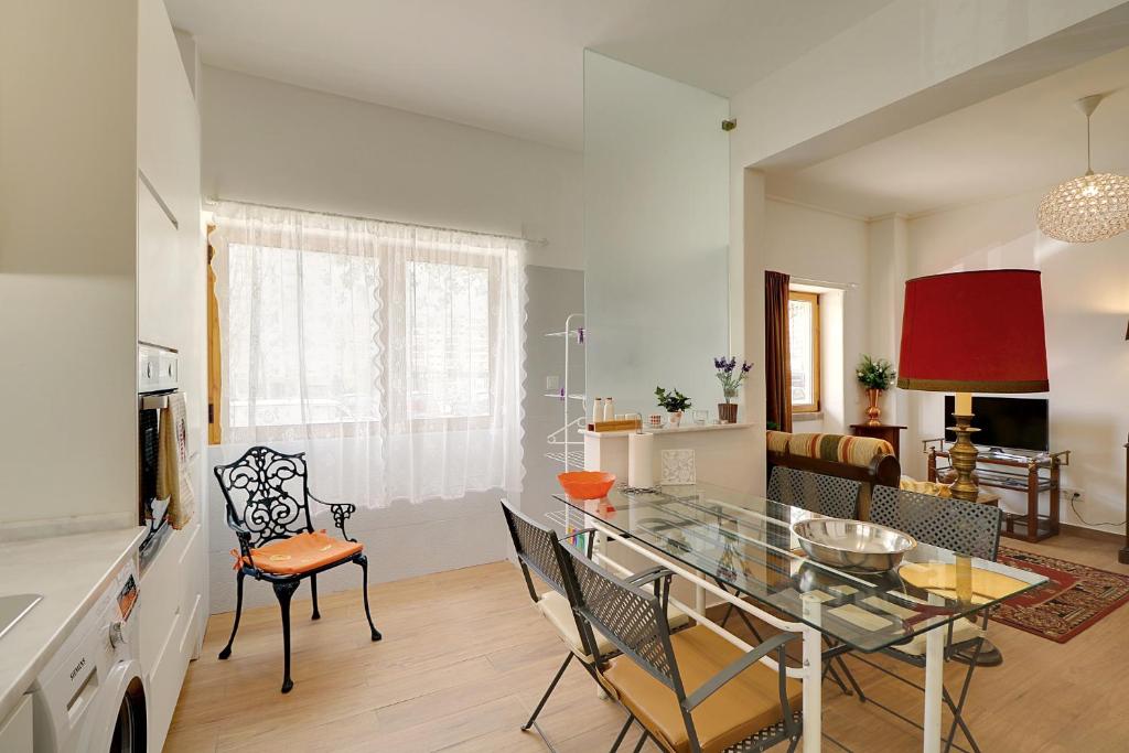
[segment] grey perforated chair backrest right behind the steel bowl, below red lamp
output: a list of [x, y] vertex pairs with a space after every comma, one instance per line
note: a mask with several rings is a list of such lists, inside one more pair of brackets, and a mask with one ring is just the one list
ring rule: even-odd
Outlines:
[[982, 560], [996, 559], [1003, 515], [990, 505], [893, 487], [875, 487], [870, 502], [874, 523], [908, 533], [926, 544]]

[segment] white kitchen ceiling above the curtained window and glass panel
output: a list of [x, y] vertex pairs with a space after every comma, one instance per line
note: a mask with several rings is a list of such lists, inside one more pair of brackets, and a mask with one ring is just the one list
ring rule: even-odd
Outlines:
[[732, 96], [892, 0], [166, 0], [205, 64], [570, 149], [583, 51]]

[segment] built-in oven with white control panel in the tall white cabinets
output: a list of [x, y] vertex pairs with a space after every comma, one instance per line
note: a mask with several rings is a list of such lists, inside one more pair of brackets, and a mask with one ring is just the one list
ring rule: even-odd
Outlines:
[[148, 527], [141, 542], [141, 571], [152, 561], [168, 535], [168, 499], [157, 496], [160, 421], [168, 396], [180, 389], [176, 350], [138, 343], [138, 522]]

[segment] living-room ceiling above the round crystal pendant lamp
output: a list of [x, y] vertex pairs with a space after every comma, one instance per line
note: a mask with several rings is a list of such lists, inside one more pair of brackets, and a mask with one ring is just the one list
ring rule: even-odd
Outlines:
[[1129, 172], [1129, 47], [799, 169], [767, 169], [768, 193], [859, 217], [919, 214], [1035, 189], [1086, 169], [1075, 100], [1093, 116], [1094, 172]]

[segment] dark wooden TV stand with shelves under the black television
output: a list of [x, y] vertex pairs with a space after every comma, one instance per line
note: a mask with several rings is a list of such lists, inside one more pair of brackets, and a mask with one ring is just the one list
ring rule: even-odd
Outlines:
[[[922, 444], [929, 456], [929, 481], [936, 482], [938, 471], [952, 467], [937, 466], [938, 458], [948, 459], [951, 444], [943, 439], [926, 439]], [[1001, 535], [1032, 543], [1058, 535], [1061, 469], [1069, 464], [1069, 449], [1030, 457], [987, 450], [977, 456], [977, 483], [980, 487], [1010, 489], [1027, 494], [1025, 513], [1004, 513]], [[1050, 498], [1049, 515], [1039, 514], [1039, 496], [1044, 491]]]

